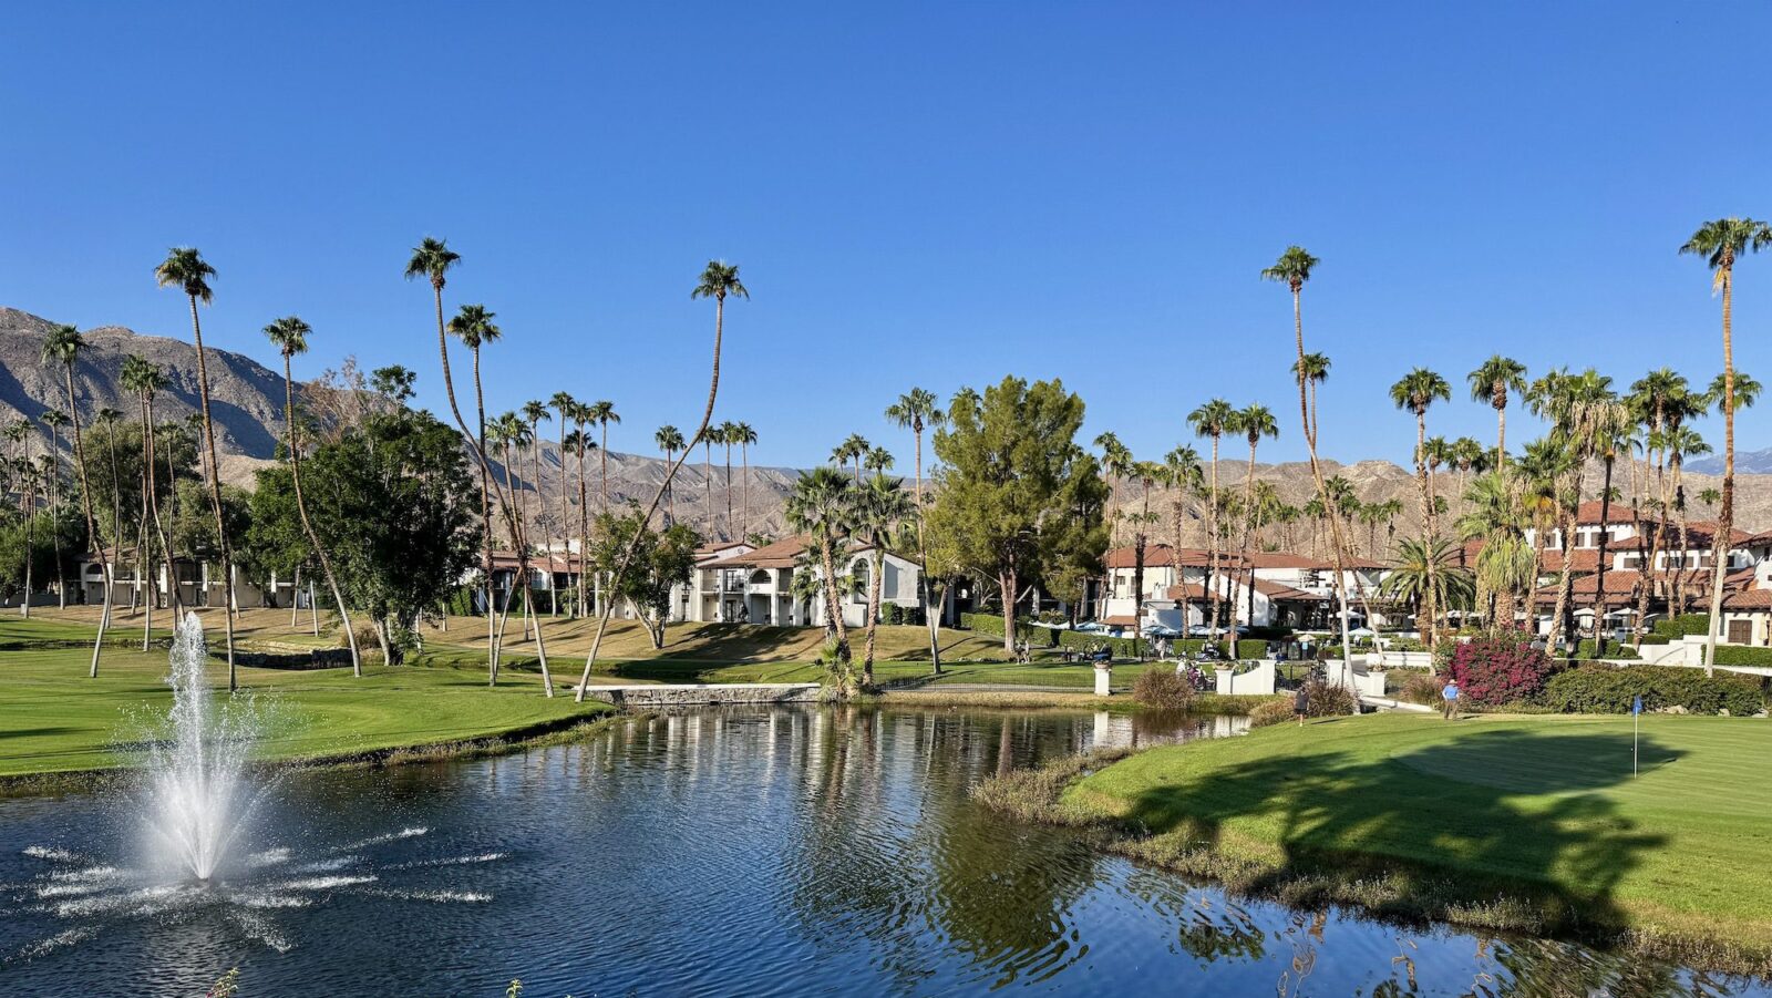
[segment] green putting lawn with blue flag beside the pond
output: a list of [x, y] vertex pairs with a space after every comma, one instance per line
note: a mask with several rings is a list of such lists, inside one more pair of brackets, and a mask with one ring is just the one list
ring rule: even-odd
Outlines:
[[1637, 778], [1630, 750], [1630, 718], [1336, 718], [1155, 748], [1070, 785], [1061, 807], [1155, 833], [1141, 854], [1251, 886], [1389, 876], [1380, 893], [1409, 911], [1411, 892], [1457, 870], [1538, 888], [1547, 929], [1772, 948], [1772, 725], [1655, 714]]

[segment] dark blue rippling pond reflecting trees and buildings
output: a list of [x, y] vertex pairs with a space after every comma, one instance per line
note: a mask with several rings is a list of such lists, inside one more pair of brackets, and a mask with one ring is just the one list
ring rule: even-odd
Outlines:
[[0, 993], [1767, 994], [1756, 982], [1239, 901], [968, 789], [1240, 721], [719, 709], [519, 755], [289, 773], [234, 883], [117, 883], [110, 794], [0, 801]]

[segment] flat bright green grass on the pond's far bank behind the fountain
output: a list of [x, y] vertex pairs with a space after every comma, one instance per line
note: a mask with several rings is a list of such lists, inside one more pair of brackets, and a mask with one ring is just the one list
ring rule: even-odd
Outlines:
[[[89, 654], [0, 652], [0, 778], [119, 766], [129, 752], [117, 746], [165, 716], [163, 649], [106, 649], [97, 679], [87, 679]], [[216, 659], [209, 679], [227, 697], [227, 668]], [[533, 674], [507, 672], [489, 690], [484, 667], [367, 667], [363, 679], [349, 668], [241, 668], [239, 679], [266, 711], [262, 753], [278, 760], [496, 737], [608, 711], [572, 704], [563, 686], [548, 700]]]

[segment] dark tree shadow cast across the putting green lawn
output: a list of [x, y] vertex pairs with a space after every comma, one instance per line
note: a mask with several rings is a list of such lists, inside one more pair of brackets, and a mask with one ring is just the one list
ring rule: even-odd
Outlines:
[[1123, 821], [1143, 837], [1123, 847], [1292, 904], [1609, 940], [1628, 925], [1620, 879], [1664, 844], [1597, 792], [1630, 778], [1630, 748], [1483, 730], [1386, 759], [1260, 759], [1139, 792]]

